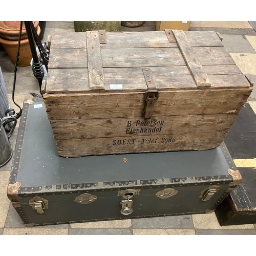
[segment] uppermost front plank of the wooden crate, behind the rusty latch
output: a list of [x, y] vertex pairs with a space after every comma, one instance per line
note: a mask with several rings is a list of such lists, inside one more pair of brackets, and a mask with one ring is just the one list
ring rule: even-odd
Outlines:
[[[240, 112], [250, 92], [251, 88], [160, 91], [154, 116], [235, 114]], [[143, 92], [44, 94], [44, 100], [50, 120], [139, 117], [144, 108]]]

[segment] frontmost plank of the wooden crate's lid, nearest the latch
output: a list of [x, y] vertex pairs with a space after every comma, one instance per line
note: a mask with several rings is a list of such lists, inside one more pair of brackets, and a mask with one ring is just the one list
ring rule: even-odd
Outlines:
[[[236, 65], [204, 66], [212, 87], [247, 87], [248, 81]], [[186, 66], [151, 67], [158, 90], [196, 89], [196, 84]], [[141, 68], [104, 68], [105, 91], [115, 91], [111, 84], [121, 84], [123, 91], [147, 90]], [[224, 76], [216, 76], [225, 74]], [[47, 93], [86, 93], [89, 91], [88, 69], [49, 69]], [[119, 89], [120, 90], [120, 89]]]

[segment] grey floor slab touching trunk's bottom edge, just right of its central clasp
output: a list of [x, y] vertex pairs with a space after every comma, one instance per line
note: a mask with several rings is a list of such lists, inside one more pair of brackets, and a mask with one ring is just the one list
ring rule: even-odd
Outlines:
[[133, 219], [132, 228], [156, 229], [194, 229], [191, 215], [154, 217], [147, 219]]

